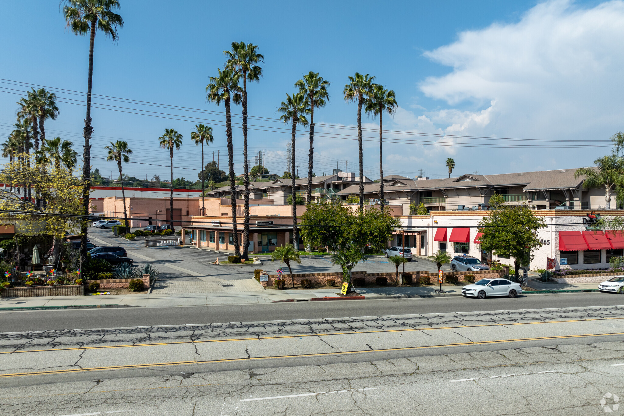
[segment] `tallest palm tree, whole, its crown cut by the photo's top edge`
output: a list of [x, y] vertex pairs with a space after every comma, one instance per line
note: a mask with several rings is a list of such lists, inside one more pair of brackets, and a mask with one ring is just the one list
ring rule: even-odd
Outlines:
[[[113, 41], [117, 41], [117, 27], [124, 26], [124, 19], [114, 11], [119, 9], [118, 0], [64, 0], [63, 14], [67, 27], [76, 35], [89, 34], [89, 73], [87, 77], [87, 114], [84, 118], [84, 153], [82, 153], [82, 209], [89, 213], [89, 190], [91, 175], [91, 90], [93, 85], [93, 47], [97, 29]], [[87, 262], [87, 222], [80, 228], [80, 264]]]

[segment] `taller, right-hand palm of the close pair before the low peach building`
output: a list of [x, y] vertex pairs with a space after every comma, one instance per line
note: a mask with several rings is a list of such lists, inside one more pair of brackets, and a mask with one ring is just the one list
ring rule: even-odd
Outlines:
[[243, 259], [248, 260], [249, 254], [249, 162], [247, 160], [247, 81], [258, 82], [262, 76], [262, 68], [258, 62], [263, 62], [265, 57], [256, 52], [258, 46], [245, 44], [245, 42], [232, 42], [231, 51], [223, 51], [228, 56], [225, 65], [242, 75], [243, 79]]

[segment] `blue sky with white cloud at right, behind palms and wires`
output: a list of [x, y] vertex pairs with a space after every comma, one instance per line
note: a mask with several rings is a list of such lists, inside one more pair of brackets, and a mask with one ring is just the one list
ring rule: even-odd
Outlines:
[[[479, 139], [434, 138], [440, 145], [397, 139], [422, 137], [388, 133], [384, 173], [414, 177], [447, 175], [444, 161], [456, 160], [456, 172], [523, 172], [591, 165], [608, 147], [567, 147], [568, 140], [608, 140], [622, 130], [624, 102], [621, 68], [624, 4], [620, 1], [442, 1], [442, 2], [204, 2], [121, 0], [125, 26], [119, 42], [98, 33], [95, 42], [94, 94], [223, 111], [205, 101], [208, 77], [223, 66], [222, 51], [232, 41], [260, 46], [264, 77], [250, 85], [250, 115], [275, 119], [276, 107], [293, 92], [301, 75], [314, 70], [331, 82], [331, 102], [315, 114], [319, 124], [353, 126], [356, 105], [341, 95], [348, 75], [369, 73], [396, 92], [399, 110], [385, 117], [389, 130], [508, 137], [552, 142], [549, 149], [449, 147]], [[27, 24], [26, 24], [27, 22]], [[25, 28], [27, 26], [27, 28]], [[66, 31], [54, 1], [0, 3], [0, 78], [46, 85], [49, 90], [85, 91], [88, 38]], [[0, 84], [0, 132], [14, 122], [19, 95]], [[59, 95], [70, 97], [66, 93]], [[77, 96], [71, 96], [76, 99]], [[127, 106], [127, 105], [122, 105]], [[61, 115], [47, 123], [48, 137], [72, 140], [82, 153], [84, 107], [60, 103]], [[138, 108], [138, 107], [137, 107]], [[154, 109], [152, 109], [154, 110]], [[159, 110], [172, 113], [170, 110]], [[240, 114], [240, 106], [233, 107]], [[226, 159], [224, 117], [175, 112], [174, 118], [217, 120], [215, 142], [206, 159]], [[168, 116], [167, 116], [168, 117]], [[106, 175], [115, 167], [104, 156], [109, 140], [123, 139], [134, 150], [124, 171], [137, 177], [168, 177], [168, 154], [158, 148], [165, 128], [184, 136], [174, 155], [175, 176], [197, 178], [198, 148], [190, 142], [196, 121], [94, 109], [93, 168]], [[367, 127], [376, 119], [364, 117]], [[211, 124], [211, 122], [205, 122]], [[250, 154], [266, 150], [271, 172], [285, 167], [290, 135], [271, 120], [256, 120], [250, 130]], [[272, 130], [272, 131], [263, 131]], [[357, 142], [332, 137], [344, 132], [318, 125], [317, 175], [338, 167], [357, 171]], [[349, 133], [351, 134], [351, 133]], [[374, 132], [371, 133], [374, 135]], [[242, 172], [242, 134], [235, 128], [235, 170]], [[484, 142], [481, 143], [500, 143]], [[527, 145], [529, 142], [512, 142]], [[544, 143], [544, 142], [540, 142]], [[578, 142], [584, 145], [590, 142]], [[608, 145], [608, 142], [595, 142]], [[308, 141], [298, 137], [297, 165], [307, 170]], [[366, 142], [365, 174], [378, 178], [378, 145]], [[222, 168], [223, 168], [222, 164]], [[227, 170], [227, 169], [225, 169]], [[116, 174], [113, 172], [116, 177]]]

